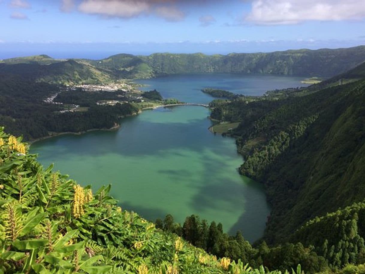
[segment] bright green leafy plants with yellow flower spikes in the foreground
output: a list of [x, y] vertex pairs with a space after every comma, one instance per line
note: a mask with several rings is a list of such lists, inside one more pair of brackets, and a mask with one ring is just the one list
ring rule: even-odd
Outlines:
[[0, 160], [1, 273], [281, 273], [217, 259], [156, 229], [118, 207], [110, 185], [93, 193], [43, 169], [2, 128]]

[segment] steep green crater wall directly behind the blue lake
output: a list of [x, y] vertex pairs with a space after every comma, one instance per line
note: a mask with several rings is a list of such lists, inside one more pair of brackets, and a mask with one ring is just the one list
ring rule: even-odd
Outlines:
[[331, 77], [365, 61], [365, 46], [347, 49], [287, 50], [228, 55], [154, 53], [118, 54], [92, 65], [123, 77], [154, 77], [175, 73], [265, 73]]

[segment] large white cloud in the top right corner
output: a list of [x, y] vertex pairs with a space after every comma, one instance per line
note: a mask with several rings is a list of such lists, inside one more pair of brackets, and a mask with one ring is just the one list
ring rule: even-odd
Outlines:
[[257, 24], [296, 24], [364, 18], [364, 0], [254, 0], [245, 19]]

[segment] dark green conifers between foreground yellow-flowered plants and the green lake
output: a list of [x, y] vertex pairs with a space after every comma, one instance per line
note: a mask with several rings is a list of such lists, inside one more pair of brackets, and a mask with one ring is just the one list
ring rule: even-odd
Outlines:
[[171, 215], [166, 215], [164, 221], [156, 220], [156, 227], [173, 232], [210, 254], [221, 258], [229, 257], [235, 261], [241, 259], [252, 267], [263, 264], [271, 269], [285, 271], [300, 264], [309, 273], [328, 270], [326, 261], [313, 251], [313, 247], [305, 248], [301, 243], [285, 243], [269, 248], [262, 242], [254, 248], [243, 238], [241, 232], [230, 236], [223, 233], [221, 223], [217, 225], [213, 221], [209, 225], [206, 220], [200, 220], [195, 215], [186, 217], [183, 226], [174, 223]]

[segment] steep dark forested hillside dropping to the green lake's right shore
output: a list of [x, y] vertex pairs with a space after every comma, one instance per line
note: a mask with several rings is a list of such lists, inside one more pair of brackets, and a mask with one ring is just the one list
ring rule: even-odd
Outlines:
[[[362, 67], [351, 75], [365, 78]], [[240, 171], [266, 186], [270, 243], [364, 199], [365, 80], [283, 100], [222, 102], [212, 117], [242, 121], [233, 133], [246, 158]]]

